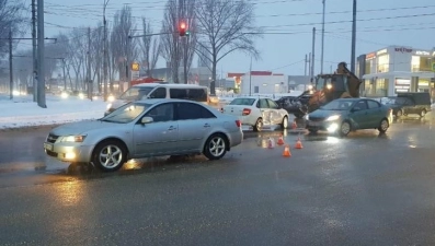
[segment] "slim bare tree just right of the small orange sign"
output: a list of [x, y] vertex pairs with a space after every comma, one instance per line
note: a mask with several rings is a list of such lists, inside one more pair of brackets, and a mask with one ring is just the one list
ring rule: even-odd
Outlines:
[[158, 38], [151, 36], [152, 28], [149, 21], [142, 17], [144, 36], [139, 46], [141, 49], [142, 66], [146, 67], [146, 74], [152, 77], [151, 72], [156, 68], [157, 61], [161, 52], [161, 45]]

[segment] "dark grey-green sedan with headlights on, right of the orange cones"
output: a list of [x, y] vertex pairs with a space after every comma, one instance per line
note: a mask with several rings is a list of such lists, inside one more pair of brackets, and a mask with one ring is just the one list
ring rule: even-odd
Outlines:
[[377, 101], [368, 98], [334, 99], [306, 116], [306, 128], [347, 136], [358, 129], [378, 129], [386, 132], [390, 127], [392, 110]]

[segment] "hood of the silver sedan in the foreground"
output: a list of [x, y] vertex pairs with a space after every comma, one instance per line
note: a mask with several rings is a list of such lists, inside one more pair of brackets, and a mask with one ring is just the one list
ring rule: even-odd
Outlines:
[[57, 136], [76, 136], [76, 134], [84, 133], [90, 130], [113, 128], [115, 126], [119, 126], [119, 124], [105, 122], [101, 120], [83, 120], [79, 122], [71, 122], [56, 127], [55, 129], [51, 130], [51, 133]]

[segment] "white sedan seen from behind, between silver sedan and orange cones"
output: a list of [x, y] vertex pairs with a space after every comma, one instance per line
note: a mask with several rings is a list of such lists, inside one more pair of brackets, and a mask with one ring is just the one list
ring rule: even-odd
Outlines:
[[283, 129], [288, 128], [288, 113], [267, 97], [234, 98], [224, 106], [222, 113], [239, 117], [242, 125], [252, 127], [254, 131], [261, 131], [264, 126], [279, 125]]

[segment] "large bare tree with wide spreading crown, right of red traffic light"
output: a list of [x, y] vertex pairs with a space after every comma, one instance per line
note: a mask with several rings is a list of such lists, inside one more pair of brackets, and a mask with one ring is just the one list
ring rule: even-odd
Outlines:
[[260, 58], [254, 42], [261, 30], [254, 25], [254, 5], [245, 0], [198, 0], [196, 20], [202, 47], [196, 51], [211, 62], [210, 93], [215, 94], [217, 63], [236, 50]]

